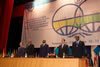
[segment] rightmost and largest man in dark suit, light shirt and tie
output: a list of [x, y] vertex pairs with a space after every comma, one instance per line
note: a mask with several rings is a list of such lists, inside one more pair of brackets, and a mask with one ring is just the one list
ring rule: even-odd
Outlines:
[[72, 44], [72, 56], [82, 58], [85, 55], [85, 44], [79, 36], [75, 36], [75, 40]]

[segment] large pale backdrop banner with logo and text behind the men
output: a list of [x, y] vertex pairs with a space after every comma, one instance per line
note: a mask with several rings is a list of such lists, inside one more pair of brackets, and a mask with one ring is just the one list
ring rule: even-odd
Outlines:
[[35, 0], [25, 5], [23, 22], [25, 47], [28, 40], [55, 47], [61, 38], [71, 46], [75, 35], [86, 45], [100, 44], [100, 0]]

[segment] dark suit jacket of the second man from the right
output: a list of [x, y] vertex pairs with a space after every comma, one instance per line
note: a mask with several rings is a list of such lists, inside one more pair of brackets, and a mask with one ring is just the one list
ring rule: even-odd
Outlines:
[[58, 57], [63, 57], [63, 53], [65, 53], [65, 56], [68, 56], [68, 45], [64, 44], [63, 48], [62, 45], [60, 45], [58, 48]]

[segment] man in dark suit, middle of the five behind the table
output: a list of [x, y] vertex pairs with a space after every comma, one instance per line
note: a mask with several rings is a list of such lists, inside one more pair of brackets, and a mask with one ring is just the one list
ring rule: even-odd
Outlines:
[[46, 44], [46, 40], [42, 41], [40, 45], [40, 57], [47, 57], [48, 56], [48, 45]]

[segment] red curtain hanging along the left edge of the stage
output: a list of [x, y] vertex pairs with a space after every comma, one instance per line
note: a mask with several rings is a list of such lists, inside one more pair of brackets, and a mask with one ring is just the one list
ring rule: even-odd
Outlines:
[[6, 52], [14, 0], [0, 0], [0, 49]]

